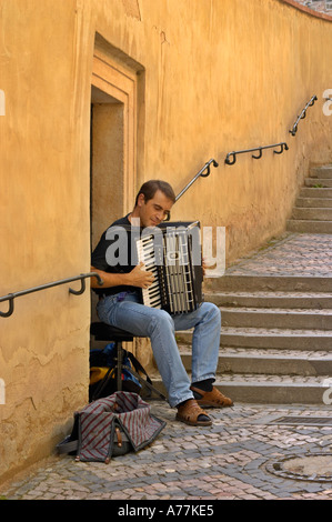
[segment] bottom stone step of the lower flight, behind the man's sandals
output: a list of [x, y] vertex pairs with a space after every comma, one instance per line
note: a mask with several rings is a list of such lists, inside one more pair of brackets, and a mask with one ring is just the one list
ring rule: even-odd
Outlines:
[[[151, 375], [152, 384], [164, 394], [164, 385], [158, 374]], [[320, 404], [329, 399], [329, 377], [251, 375], [232, 374], [218, 378], [214, 385], [234, 404]], [[208, 410], [213, 416], [213, 410]]]

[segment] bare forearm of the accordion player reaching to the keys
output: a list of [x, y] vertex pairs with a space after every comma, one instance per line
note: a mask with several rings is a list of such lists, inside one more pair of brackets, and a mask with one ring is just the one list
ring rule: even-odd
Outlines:
[[97, 278], [91, 278], [91, 288], [98, 289], [121, 287], [123, 284], [129, 287], [148, 288], [154, 281], [153, 273], [147, 272], [143, 263], [138, 264], [129, 273], [109, 273], [103, 270], [98, 270], [94, 267], [91, 267], [91, 272], [97, 272], [103, 281], [103, 284], [100, 285]]

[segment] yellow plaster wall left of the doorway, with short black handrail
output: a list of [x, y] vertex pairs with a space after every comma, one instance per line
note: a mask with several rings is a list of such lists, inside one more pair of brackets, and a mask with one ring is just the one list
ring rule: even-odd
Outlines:
[[[89, 271], [91, 72], [76, 7], [0, 1], [0, 295]], [[70, 287], [19, 298], [0, 318], [0, 476], [52, 452], [87, 401], [90, 292]]]

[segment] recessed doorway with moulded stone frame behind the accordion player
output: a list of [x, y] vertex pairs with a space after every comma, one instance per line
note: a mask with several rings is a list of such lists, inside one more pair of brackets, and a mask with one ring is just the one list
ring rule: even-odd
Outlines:
[[[110, 224], [132, 210], [137, 191], [137, 66], [97, 36], [91, 79], [91, 251]], [[91, 292], [91, 321], [97, 297]]]

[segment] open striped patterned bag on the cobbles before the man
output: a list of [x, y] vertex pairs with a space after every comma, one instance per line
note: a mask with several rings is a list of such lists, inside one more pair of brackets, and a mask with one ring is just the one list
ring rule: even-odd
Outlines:
[[108, 463], [112, 455], [143, 449], [164, 426], [140, 395], [118, 391], [77, 412], [71, 435], [57, 448], [77, 453], [78, 461]]

